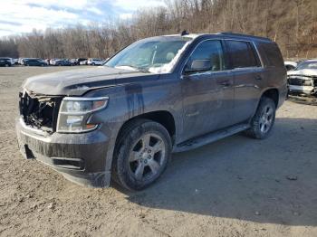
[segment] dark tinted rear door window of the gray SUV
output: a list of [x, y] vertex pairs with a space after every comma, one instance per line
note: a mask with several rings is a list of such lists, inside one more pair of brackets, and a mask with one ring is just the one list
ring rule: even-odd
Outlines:
[[226, 44], [231, 55], [232, 67], [234, 69], [259, 67], [261, 65], [251, 43], [242, 41], [226, 41]]

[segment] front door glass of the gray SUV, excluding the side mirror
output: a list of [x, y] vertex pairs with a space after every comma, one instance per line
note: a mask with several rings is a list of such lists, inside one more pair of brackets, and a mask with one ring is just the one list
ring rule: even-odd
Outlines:
[[187, 66], [195, 60], [209, 60], [211, 67], [209, 71], [222, 71], [226, 69], [224, 52], [220, 41], [206, 41], [198, 44], [195, 51], [191, 54]]

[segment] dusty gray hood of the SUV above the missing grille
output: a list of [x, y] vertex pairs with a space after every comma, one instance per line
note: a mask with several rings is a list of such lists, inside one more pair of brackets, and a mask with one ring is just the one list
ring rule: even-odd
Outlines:
[[88, 90], [145, 81], [149, 77], [158, 78], [159, 75], [110, 67], [93, 67], [34, 76], [26, 79], [23, 87], [39, 95], [81, 96]]

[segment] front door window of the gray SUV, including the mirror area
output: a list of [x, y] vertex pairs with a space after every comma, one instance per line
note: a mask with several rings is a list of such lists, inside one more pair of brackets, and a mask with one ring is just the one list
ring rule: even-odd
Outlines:
[[[201, 65], [201, 70], [199, 70]], [[186, 71], [222, 71], [226, 69], [224, 52], [220, 41], [199, 43], [187, 61]]]

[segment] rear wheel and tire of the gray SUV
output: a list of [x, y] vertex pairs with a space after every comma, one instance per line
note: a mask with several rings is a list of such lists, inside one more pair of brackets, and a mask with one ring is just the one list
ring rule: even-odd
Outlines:
[[264, 139], [271, 134], [275, 121], [275, 103], [274, 100], [264, 97], [261, 99], [255, 116], [251, 120], [251, 128], [245, 131], [248, 137]]

